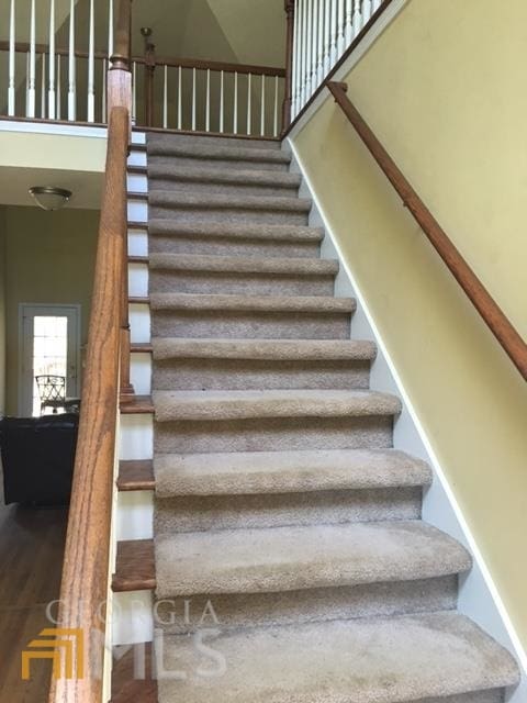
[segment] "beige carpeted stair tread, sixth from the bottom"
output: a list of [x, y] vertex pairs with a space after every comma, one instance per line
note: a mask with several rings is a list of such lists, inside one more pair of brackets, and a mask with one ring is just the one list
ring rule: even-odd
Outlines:
[[357, 303], [352, 298], [325, 295], [152, 293], [150, 305], [153, 310], [351, 313]]

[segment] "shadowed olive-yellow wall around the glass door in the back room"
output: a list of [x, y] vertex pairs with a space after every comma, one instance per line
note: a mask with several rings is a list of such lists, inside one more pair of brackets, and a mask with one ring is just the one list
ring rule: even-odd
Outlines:
[[7, 412], [18, 412], [19, 304], [80, 304], [88, 339], [99, 213], [5, 209]]

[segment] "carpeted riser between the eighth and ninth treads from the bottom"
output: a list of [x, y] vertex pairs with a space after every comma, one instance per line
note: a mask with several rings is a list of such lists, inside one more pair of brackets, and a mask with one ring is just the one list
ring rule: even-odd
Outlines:
[[[279, 199], [277, 199], [279, 202]], [[307, 224], [309, 213], [305, 210], [257, 210], [240, 208], [216, 208], [200, 205], [177, 205], [172, 203], [155, 203], [149, 207], [150, 217], [179, 220], [186, 223], [203, 222], [250, 222], [256, 224]]]

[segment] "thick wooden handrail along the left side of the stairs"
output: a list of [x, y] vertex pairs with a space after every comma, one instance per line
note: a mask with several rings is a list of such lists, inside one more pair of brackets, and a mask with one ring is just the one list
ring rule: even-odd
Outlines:
[[102, 701], [104, 603], [110, 571], [119, 410], [122, 281], [126, 276], [123, 238], [126, 235], [128, 124], [127, 110], [114, 108], [109, 123], [105, 182], [58, 613], [60, 627], [81, 631], [86, 652], [83, 676], [53, 681], [49, 703]]

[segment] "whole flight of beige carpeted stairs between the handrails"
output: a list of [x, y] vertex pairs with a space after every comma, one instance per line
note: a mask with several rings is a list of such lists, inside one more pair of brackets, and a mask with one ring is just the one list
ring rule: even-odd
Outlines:
[[421, 520], [289, 166], [147, 137], [159, 702], [498, 703], [517, 666], [456, 612], [471, 557]]

